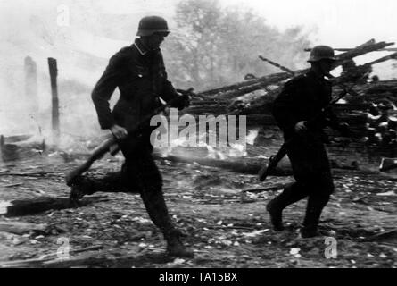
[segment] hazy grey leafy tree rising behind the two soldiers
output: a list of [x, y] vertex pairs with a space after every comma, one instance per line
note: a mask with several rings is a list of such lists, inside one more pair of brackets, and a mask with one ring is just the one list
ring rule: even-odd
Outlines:
[[258, 55], [294, 69], [310, 46], [302, 28], [281, 32], [251, 10], [222, 9], [218, 0], [182, 1], [175, 21], [177, 29], [164, 48], [170, 76], [179, 86], [197, 90], [240, 81], [247, 73], [274, 72]]

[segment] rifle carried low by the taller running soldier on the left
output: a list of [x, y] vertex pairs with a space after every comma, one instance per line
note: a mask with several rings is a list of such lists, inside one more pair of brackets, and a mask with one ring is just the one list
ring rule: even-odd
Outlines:
[[[177, 89], [177, 91], [183, 96], [190, 96], [193, 94], [193, 88], [189, 88], [188, 90]], [[167, 105], [161, 105], [157, 107], [153, 111], [153, 113], [146, 115], [142, 121], [136, 124], [136, 128], [134, 130], [130, 130], [128, 132], [128, 138], [134, 137], [141, 133], [144, 130], [144, 127], [147, 126], [147, 123], [150, 122], [154, 115], [160, 114], [166, 108], [178, 102], [178, 100], [181, 100], [181, 98], [176, 97], [170, 100]], [[86, 162], [80, 164], [78, 167], [76, 167], [66, 175], [66, 184], [68, 186], [71, 186], [74, 181], [76, 181], [76, 179], [79, 177], [79, 175], [87, 172], [91, 165], [94, 164], [96, 160], [101, 159], [107, 152], [110, 152], [112, 156], [116, 155], [120, 151], [119, 143], [120, 140], [116, 139], [113, 135], [111, 135], [109, 139], [105, 139], [98, 147], [94, 149], [93, 153], [91, 154], [91, 156], [88, 157]]]

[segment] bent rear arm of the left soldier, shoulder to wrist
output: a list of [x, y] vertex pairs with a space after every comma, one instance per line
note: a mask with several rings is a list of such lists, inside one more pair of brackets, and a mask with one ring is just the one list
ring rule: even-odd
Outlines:
[[115, 124], [109, 100], [119, 85], [124, 63], [124, 57], [120, 52], [113, 55], [91, 94], [102, 129], [110, 129]]

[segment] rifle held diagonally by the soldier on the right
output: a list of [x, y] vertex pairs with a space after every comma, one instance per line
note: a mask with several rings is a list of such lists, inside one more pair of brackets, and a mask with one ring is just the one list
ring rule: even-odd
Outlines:
[[[366, 72], [359, 80], [364, 79], [369, 72]], [[332, 77], [332, 76], [330, 76]], [[359, 81], [357, 80], [357, 81]], [[313, 123], [318, 121], [318, 118], [320, 118], [329, 108], [331, 108], [332, 105], [335, 105], [339, 100], [341, 100], [345, 95], [347, 95], [348, 93], [352, 93], [352, 94], [356, 94], [352, 88], [354, 88], [356, 86], [357, 83], [353, 83], [352, 86], [350, 88], [343, 88], [343, 90], [339, 93], [339, 95], [337, 95], [336, 97], [334, 97], [327, 106], [325, 106], [324, 108], [321, 109], [321, 111], [314, 116], [310, 121], [307, 122], [307, 127], [310, 128], [310, 126], [312, 126]], [[269, 176], [269, 174], [271, 172], [274, 171], [274, 169], [277, 167], [277, 164], [281, 161], [281, 159], [284, 158], [284, 156], [286, 155], [286, 151], [288, 149], [288, 147], [294, 143], [294, 137], [292, 137], [291, 139], [286, 140], [283, 145], [280, 147], [280, 149], [278, 150], [277, 154], [274, 156], [270, 156], [269, 158], [269, 164], [264, 164], [261, 167], [261, 170], [258, 172], [258, 176], [259, 176], [259, 180], [260, 181], [265, 181], [266, 178]]]

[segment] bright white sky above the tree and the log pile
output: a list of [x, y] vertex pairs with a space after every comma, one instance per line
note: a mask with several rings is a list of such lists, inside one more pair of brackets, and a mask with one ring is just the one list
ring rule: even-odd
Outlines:
[[[114, 13], [166, 15], [173, 13], [178, 0], [100, 0], [100, 3]], [[308, 31], [317, 31], [314, 40], [332, 46], [360, 45], [370, 38], [397, 40], [395, 0], [220, 0], [220, 3], [252, 7], [270, 25], [280, 29], [303, 25]]]

